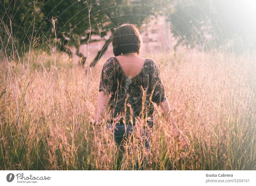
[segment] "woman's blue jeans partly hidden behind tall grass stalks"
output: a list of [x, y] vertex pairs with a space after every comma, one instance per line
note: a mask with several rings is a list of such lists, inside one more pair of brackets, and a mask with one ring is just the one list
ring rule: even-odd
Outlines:
[[[107, 128], [110, 129], [113, 124], [110, 123], [107, 125]], [[126, 129], [126, 130], [125, 130]], [[124, 123], [116, 123], [115, 130], [114, 130], [114, 139], [118, 147], [120, 147], [120, 150], [124, 151], [123, 144], [127, 139], [129, 139], [129, 136], [132, 134], [132, 125], [124, 125]], [[146, 127], [143, 127], [143, 132], [144, 132], [144, 144], [145, 148], [149, 149], [150, 146], [150, 138], [149, 138], [149, 133], [148, 129]], [[136, 162], [136, 170], [143, 170], [144, 165], [146, 164], [145, 157], [141, 157], [142, 160], [142, 166], [139, 166], [138, 161]]]

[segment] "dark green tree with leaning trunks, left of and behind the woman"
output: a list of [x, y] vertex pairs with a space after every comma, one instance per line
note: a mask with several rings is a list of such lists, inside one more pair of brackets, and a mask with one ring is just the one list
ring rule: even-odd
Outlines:
[[[156, 16], [160, 12], [154, 10], [154, 6], [160, 4], [153, 0], [139, 0], [136, 3], [131, 3], [130, 0], [24, 0], [22, 3], [6, 0], [0, 4], [0, 33], [4, 34], [6, 31], [2, 24], [8, 23], [7, 27], [13, 30], [20, 54], [33, 42], [29, 38], [40, 37], [43, 50], [47, 50], [47, 46], [54, 47], [53, 43], [56, 42], [57, 50], [71, 55], [70, 48], [74, 46], [76, 54], [82, 58], [82, 63], [86, 57], [79, 53], [79, 46], [91, 42], [90, 36], [100, 35], [102, 40], [108, 31], [113, 33], [123, 23], [140, 27], [152, 18], [150, 16]], [[90, 66], [96, 65], [110, 42], [111, 38], [105, 41]]]

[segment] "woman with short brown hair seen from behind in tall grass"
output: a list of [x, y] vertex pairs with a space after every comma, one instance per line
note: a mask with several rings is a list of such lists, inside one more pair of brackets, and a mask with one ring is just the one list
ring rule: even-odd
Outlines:
[[[155, 61], [139, 56], [142, 41], [138, 29], [132, 24], [121, 25], [113, 34], [112, 44], [115, 57], [106, 61], [101, 72], [96, 123], [100, 123], [108, 105], [111, 111], [108, 126], [115, 124], [115, 141], [122, 148], [136, 122], [146, 120], [148, 127], [153, 127], [154, 105], [157, 105], [172, 125], [174, 136], [180, 138], [183, 146], [188, 145], [170, 114]], [[147, 137], [145, 147], [149, 148]]]

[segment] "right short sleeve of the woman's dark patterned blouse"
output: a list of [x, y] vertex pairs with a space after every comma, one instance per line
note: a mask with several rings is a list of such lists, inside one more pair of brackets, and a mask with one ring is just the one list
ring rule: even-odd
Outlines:
[[159, 68], [156, 65], [156, 62], [152, 59], [152, 68], [151, 68], [151, 74], [152, 74], [152, 79], [151, 79], [151, 88], [152, 88], [152, 101], [154, 103], [161, 103], [166, 100], [165, 96], [165, 90], [164, 90], [164, 85], [161, 80]]

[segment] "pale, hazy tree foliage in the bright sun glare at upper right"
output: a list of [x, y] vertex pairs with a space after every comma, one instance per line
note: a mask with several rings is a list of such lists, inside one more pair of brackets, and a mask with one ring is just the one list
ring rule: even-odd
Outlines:
[[[253, 12], [250, 3], [242, 1], [175, 1], [169, 12], [173, 36], [189, 48], [206, 45], [207, 50], [242, 52], [255, 46]], [[247, 46], [246, 46], [247, 45]], [[247, 49], [252, 50], [253, 47]]]

